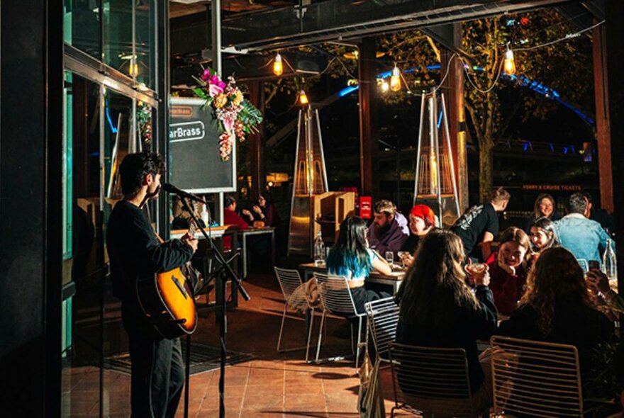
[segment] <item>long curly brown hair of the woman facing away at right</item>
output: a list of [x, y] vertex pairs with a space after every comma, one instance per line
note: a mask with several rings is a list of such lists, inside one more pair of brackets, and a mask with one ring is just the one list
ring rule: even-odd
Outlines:
[[552, 331], [555, 300], [561, 296], [593, 306], [579, 262], [564, 247], [551, 247], [545, 249], [533, 264], [527, 279], [527, 291], [520, 300], [520, 305], [530, 305], [537, 311], [537, 327], [544, 337]]

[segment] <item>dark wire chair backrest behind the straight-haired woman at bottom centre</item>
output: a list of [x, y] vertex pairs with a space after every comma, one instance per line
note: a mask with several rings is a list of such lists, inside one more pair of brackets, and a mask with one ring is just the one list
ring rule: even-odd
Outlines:
[[444, 417], [474, 417], [464, 349], [389, 344], [397, 407]]

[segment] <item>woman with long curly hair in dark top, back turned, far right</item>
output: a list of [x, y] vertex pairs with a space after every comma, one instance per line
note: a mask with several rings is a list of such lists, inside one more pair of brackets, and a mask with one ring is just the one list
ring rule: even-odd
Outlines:
[[563, 247], [545, 249], [530, 271], [520, 306], [497, 334], [579, 350], [581, 380], [587, 382], [598, 344], [613, 338], [613, 324], [589, 298], [579, 263]]

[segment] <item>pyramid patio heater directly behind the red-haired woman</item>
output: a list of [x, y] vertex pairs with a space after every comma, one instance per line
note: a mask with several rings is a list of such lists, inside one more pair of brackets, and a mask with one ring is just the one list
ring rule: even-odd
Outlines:
[[460, 215], [445, 100], [435, 90], [420, 102], [414, 203], [432, 208], [440, 227], [449, 227]]

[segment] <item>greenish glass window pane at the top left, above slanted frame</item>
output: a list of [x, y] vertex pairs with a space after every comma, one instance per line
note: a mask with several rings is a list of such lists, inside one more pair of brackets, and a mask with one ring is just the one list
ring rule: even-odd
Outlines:
[[100, 59], [99, 0], [64, 0], [63, 35], [69, 45]]

